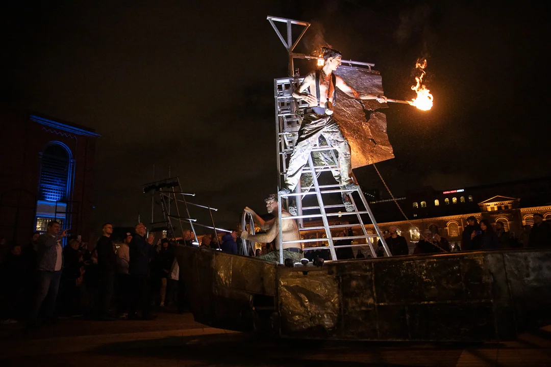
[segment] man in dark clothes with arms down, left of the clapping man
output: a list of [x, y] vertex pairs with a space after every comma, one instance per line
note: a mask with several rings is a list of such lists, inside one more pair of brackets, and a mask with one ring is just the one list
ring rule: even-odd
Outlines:
[[98, 240], [96, 248], [98, 249], [98, 275], [99, 275], [99, 318], [100, 320], [115, 320], [109, 315], [109, 306], [113, 297], [115, 287], [115, 270], [117, 266], [117, 254], [111, 239], [113, 226], [105, 223], [103, 235]]

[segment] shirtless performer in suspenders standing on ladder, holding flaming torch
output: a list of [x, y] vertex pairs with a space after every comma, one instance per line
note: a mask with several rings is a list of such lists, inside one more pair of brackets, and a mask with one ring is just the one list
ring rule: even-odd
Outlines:
[[[346, 95], [358, 100], [377, 100], [385, 103], [385, 96], [363, 94], [355, 91], [344, 83], [344, 80], [333, 72], [341, 65], [342, 54], [332, 48], [323, 47], [323, 59], [325, 63], [321, 70], [310, 72], [302, 81], [298, 90], [293, 92], [293, 97], [308, 102], [304, 110], [304, 119], [299, 129], [299, 138], [291, 154], [287, 179], [279, 194], [289, 194], [299, 183], [302, 169], [306, 166], [310, 152], [315, 147], [321, 135], [327, 143], [336, 148], [338, 152], [338, 166], [341, 168], [341, 185], [345, 190], [353, 190], [357, 185], [352, 180], [352, 163], [350, 161], [350, 145], [344, 138], [341, 129], [332, 117], [333, 104], [335, 103], [336, 90], [338, 87]], [[316, 95], [306, 92], [306, 89], [315, 90]], [[344, 199], [344, 195], [343, 195]], [[344, 203], [345, 205], [347, 202]], [[348, 211], [353, 207], [347, 206]]]

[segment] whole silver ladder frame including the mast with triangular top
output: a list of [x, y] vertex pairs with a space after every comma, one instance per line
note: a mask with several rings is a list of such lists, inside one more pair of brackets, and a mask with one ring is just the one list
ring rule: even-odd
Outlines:
[[[302, 36], [305, 34], [306, 30], [309, 28], [310, 23], [307, 23], [305, 21], [299, 21], [299, 20], [293, 20], [293, 19], [285, 19], [285, 18], [277, 18], [277, 17], [267, 17], [269, 23], [272, 25], [273, 29], [276, 31], [276, 34], [278, 35], [280, 41], [282, 41], [283, 46], [287, 48], [287, 52], [289, 54], [289, 65], [288, 65], [288, 72], [289, 77], [288, 78], [279, 78], [274, 79], [274, 99], [275, 99], [275, 114], [276, 114], [276, 145], [277, 145], [277, 168], [278, 168], [278, 187], [279, 183], [282, 182], [283, 179], [285, 179], [287, 175], [287, 159], [290, 157], [291, 153], [293, 152], [294, 146], [296, 144], [296, 140], [298, 139], [298, 131], [301, 124], [301, 109], [304, 109], [307, 107], [307, 103], [305, 101], [297, 101], [295, 98], [293, 98], [293, 91], [297, 89], [300, 84], [302, 83], [302, 80], [304, 78], [300, 78], [298, 75], [295, 76], [294, 74], [294, 64], [293, 59], [294, 58], [301, 58], [301, 59], [320, 59], [321, 57], [315, 57], [315, 56], [307, 56], [305, 54], [300, 53], [293, 53], [294, 48], [302, 38]], [[277, 29], [276, 25], [274, 24], [274, 21], [279, 21], [282, 23], [287, 24], [287, 41], [284, 40], [283, 36]], [[302, 30], [301, 34], [299, 35], [298, 39], [296, 39], [295, 42], [293, 42], [293, 36], [291, 32], [291, 25], [303, 25], [305, 28]], [[372, 63], [365, 63], [365, 62], [358, 62], [358, 61], [352, 61], [352, 60], [343, 60], [342, 63], [347, 64], [354, 64], [354, 65], [360, 65], [363, 67], [368, 67], [371, 70], [371, 67], [373, 67], [375, 64]], [[337, 162], [336, 156], [334, 154], [334, 148], [328, 144], [327, 146], [318, 146], [312, 151], [328, 151], [333, 158], [333, 162]], [[334, 185], [320, 185], [318, 183], [317, 178], [320, 176], [321, 172], [324, 171], [335, 171], [339, 170], [340, 168], [337, 165], [326, 165], [326, 166], [314, 166], [314, 163], [312, 162], [312, 157], [310, 156], [309, 167], [305, 168], [302, 171], [302, 174], [307, 173], [312, 175], [313, 180], [313, 188], [301, 188], [300, 182], [299, 185], [296, 187], [294, 193], [290, 193], [287, 195], [278, 195], [278, 201], [280, 203], [279, 210], [278, 210], [278, 216], [279, 216], [279, 248], [283, 249], [283, 244], [289, 244], [289, 243], [307, 243], [307, 242], [328, 242], [327, 246], [321, 246], [321, 247], [310, 247], [304, 249], [307, 250], [315, 250], [315, 249], [329, 249], [329, 252], [331, 253], [331, 259], [337, 260], [336, 251], [333, 244], [333, 237], [331, 234], [332, 228], [344, 228], [349, 227], [350, 225], [329, 225], [327, 217], [331, 216], [344, 216], [344, 215], [355, 215], [356, 218], [358, 218], [358, 221], [360, 223], [361, 228], [363, 228], [363, 235], [352, 235], [348, 237], [339, 237], [339, 239], [360, 239], [365, 238], [366, 244], [353, 244], [353, 245], [345, 245], [343, 247], [357, 247], [357, 246], [366, 246], [368, 245], [372, 256], [376, 257], [375, 249], [374, 249], [374, 243], [372, 242], [372, 238], [379, 237], [380, 241], [383, 245], [383, 249], [385, 250], [385, 253], [387, 256], [392, 256], [390, 253], [390, 250], [388, 250], [387, 244], [385, 239], [383, 238], [382, 232], [377, 226], [377, 222], [375, 221], [375, 217], [373, 216], [373, 213], [371, 212], [371, 209], [369, 207], [368, 201], [365, 199], [365, 196], [361, 189], [357, 187], [353, 190], [344, 190], [341, 185], [334, 184]], [[313, 189], [313, 190], [312, 190]], [[356, 205], [356, 202], [353, 198], [353, 193], [358, 193], [361, 202], [363, 203], [365, 210], [358, 210], [358, 206]], [[342, 205], [325, 205], [323, 201], [323, 196], [326, 194], [345, 194], [348, 195], [349, 200], [352, 202], [352, 205], [354, 206], [354, 211], [352, 212], [331, 212], [333, 209], [339, 209], [344, 207], [344, 204]], [[316, 195], [317, 199], [317, 205], [314, 206], [303, 206], [302, 200], [306, 196], [310, 195]], [[296, 199], [296, 209], [298, 215], [296, 216], [290, 216], [282, 218], [282, 199], [288, 199], [288, 198], [295, 198]], [[319, 213], [315, 214], [304, 214], [304, 211], [311, 211], [311, 210], [318, 210]], [[368, 215], [371, 223], [374, 225], [376, 234], [369, 234], [366, 231], [364, 220], [361, 217], [361, 215]], [[304, 227], [304, 219], [305, 218], [321, 218], [323, 222], [323, 226], [321, 227]], [[283, 220], [298, 220], [299, 221], [299, 231], [306, 231], [306, 230], [312, 230], [312, 229], [325, 229], [326, 238], [316, 238], [316, 239], [301, 239], [296, 241], [283, 241], [283, 233], [282, 233], [282, 221]], [[280, 251], [280, 264], [283, 264], [283, 251]]]

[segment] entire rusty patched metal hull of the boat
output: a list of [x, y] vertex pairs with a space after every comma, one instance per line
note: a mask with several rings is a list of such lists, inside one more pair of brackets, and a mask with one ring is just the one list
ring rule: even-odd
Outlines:
[[[204, 274], [212, 284], [190, 277], [203, 288], [189, 289], [196, 319], [215, 327], [292, 338], [487, 341], [514, 339], [526, 327], [551, 323], [551, 251], [336, 261], [292, 269], [241, 256], [210, 256], [190, 253], [198, 275], [209, 273], [199, 262], [212, 264], [212, 277]], [[249, 276], [256, 284], [246, 280]], [[208, 299], [214, 305], [203, 303]], [[277, 299], [277, 308], [259, 308], [256, 299], [268, 305]]]

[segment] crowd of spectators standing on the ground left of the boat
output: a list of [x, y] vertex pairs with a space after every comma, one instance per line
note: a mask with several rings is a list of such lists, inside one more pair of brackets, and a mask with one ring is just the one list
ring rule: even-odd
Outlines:
[[[58, 317], [153, 320], [153, 307], [183, 313], [185, 289], [175, 248], [196, 244], [191, 231], [184, 231], [180, 240], [155, 243], [143, 223], [123, 238], [114, 238], [113, 230], [105, 223], [89, 251], [80, 236], [68, 238], [60, 223], [51, 221], [46, 233], [34, 233], [28, 245], [3, 251], [2, 324], [23, 321], [35, 327]], [[237, 253], [235, 236], [235, 231], [228, 233], [221, 244], [228, 253]], [[203, 238], [203, 245], [218, 248], [218, 243], [218, 235]]]

